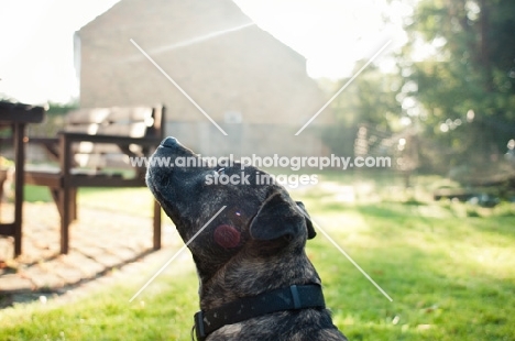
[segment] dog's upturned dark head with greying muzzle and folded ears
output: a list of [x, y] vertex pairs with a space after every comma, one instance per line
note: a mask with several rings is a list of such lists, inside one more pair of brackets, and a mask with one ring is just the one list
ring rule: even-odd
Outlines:
[[206, 278], [242, 249], [267, 256], [303, 250], [306, 239], [315, 237], [302, 202], [293, 201], [282, 186], [269, 184], [267, 176], [252, 166], [242, 169], [239, 163], [202, 165], [198, 155], [167, 138], [152, 156], [146, 183], [189, 242]]

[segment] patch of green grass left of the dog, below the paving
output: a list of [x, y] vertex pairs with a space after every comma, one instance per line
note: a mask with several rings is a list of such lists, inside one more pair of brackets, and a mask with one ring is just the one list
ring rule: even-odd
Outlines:
[[[0, 312], [0, 340], [188, 340], [196, 311], [196, 275], [166, 273], [134, 302], [144, 279], [96, 292], [69, 304], [18, 305]], [[184, 328], [183, 328], [184, 327]]]

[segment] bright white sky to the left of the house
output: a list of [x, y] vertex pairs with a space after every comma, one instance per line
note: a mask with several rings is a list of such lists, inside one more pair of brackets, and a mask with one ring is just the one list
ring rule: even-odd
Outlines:
[[3, 1], [0, 44], [9, 48], [0, 54], [0, 97], [34, 105], [76, 98], [74, 32], [118, 1]]

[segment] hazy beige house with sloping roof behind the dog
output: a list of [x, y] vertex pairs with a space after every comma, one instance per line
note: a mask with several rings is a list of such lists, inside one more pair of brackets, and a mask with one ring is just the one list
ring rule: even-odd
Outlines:
[[328, 110], [294, 135], [327, 101], [306, 59], [231, 0], [121, 0], [75, 42], [81, 107], [164, 103], [166, 134], [204, 155], [327, 154]]

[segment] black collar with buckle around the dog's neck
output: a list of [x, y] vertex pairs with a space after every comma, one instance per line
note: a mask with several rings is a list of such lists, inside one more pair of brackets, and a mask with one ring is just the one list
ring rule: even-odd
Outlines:
[[[282, 310], [324, 309], [324, 294], [318, 284], [292, 285], [252, 297], [243, 297], [221, 307], [195, 314], [197, 340], [206, 340], [215, 330], [253, 317]], [[193, 330], [191, 330], [193, 338]]]

